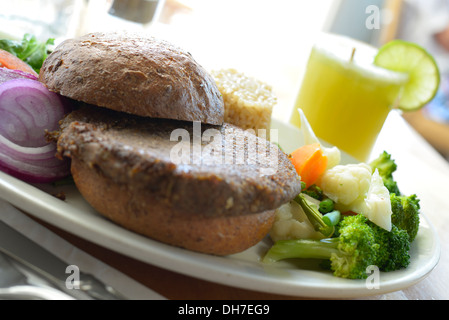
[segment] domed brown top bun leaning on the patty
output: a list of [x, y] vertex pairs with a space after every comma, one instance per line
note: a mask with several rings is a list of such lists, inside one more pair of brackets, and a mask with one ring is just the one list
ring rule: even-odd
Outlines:
[[39, 80], [88, 104], [152, 118], [221, 125], [223, 98], [209, 73], [173, 44], [133, 33], [90, 33], [62, 42]]

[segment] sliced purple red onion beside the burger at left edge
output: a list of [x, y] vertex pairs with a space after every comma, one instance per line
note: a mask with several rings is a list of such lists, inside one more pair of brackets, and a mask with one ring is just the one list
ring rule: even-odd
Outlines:
[[55, 157], [45, 131], [59, 129], [71, 110], [67, 101], [32, 79], [0, 84], [0, 170], [27, 182], [51, 182], [69, 174], [67, 160]]

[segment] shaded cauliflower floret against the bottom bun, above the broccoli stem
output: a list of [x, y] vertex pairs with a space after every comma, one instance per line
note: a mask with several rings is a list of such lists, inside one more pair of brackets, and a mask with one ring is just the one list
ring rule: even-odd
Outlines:
[[276, 210], [276, 219], [270, 231], [271, 239], [323, 239], [320, 232], [315, 231], [301, 206], [295, 201], [284, 204]]

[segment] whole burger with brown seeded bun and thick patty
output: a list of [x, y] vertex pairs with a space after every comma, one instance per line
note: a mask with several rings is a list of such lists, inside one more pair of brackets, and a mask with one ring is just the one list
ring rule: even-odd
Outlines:
[[52, 136], [81, 195], [154, 240], [213, 255], [244, 251], [301, 191], [275, 144], [224, 121], [211, 75], [150, 36], [91, 33], [58, 45], [41, 81], [77, 102]]

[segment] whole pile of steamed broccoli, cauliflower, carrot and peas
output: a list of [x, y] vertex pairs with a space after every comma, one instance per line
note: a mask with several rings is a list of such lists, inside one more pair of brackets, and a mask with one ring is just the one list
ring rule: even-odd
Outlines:
[[263, 262], [321, 259], [320, 265], [348, 279], [366, 279], [372, 266], [384, 272], [406, 268], [420, 204], [416, 195], [399, 191], [391, 155], [383, 152], [369, 164], [336, 164], [338, 150], [321, 146], [301, 115], [306, 145], [291, 159], [301, 177], [304, 170], [313, 173], [301, 179], [301, 194], [277, 210], [274, 245]]

